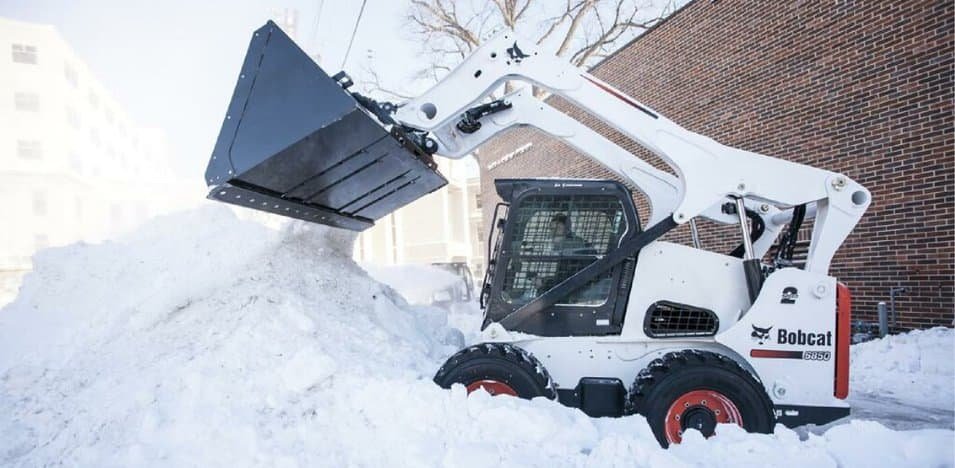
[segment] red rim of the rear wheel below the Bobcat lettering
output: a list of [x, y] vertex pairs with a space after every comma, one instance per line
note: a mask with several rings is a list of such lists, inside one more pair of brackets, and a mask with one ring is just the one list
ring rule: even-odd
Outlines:
[[713, 390], [693, 390], [680, 395], [670, 404], [664, 422], [667, 442], [679, 444], [683, 440], [683, 429], [687, 427], [688, 416], [712, 418], [715, 424], [743, 426], [739, 408], [726, 395]]

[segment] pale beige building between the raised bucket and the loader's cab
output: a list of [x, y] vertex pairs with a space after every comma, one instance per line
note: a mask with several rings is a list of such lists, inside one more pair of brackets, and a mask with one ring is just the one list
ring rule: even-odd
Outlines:
[[355, 259], [380, 265], [465, 262], [480, 281], [480, 183], [470, 161], [435, 158], [448, 185], [377, 221], [358, 236]]

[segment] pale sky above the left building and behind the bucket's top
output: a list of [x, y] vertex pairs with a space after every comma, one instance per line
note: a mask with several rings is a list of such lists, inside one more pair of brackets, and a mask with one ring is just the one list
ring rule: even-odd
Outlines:
[[[320, 55], [331, 74], [341, 68], [360, 6], [359, 0], [0, 0], [0, 16], [54, 25], [137, 125], [165, 131], [177, 172], [201, 178], [252, 32], [287, 8], [297, 10], [297, 42]], [[389, 82], [411, 75], [418, 48], [401, 32], [405, 8], [403, 1], [367, 1], [346, 70], [374, 66]]]

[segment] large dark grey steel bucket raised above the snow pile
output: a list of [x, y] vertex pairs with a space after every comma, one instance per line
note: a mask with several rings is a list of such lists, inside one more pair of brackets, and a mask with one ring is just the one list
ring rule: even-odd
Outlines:
[[444, 186], [274, 23], [257, 30], [206, 169], [209, 198], [361, 231]]

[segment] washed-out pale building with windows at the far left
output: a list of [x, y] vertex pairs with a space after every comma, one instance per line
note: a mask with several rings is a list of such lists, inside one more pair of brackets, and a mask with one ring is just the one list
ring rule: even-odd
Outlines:
[[[53, 26], [0, 18], [0, 272], [201, 200]], [[194, 203], [194, 202], [192, 202]]]

